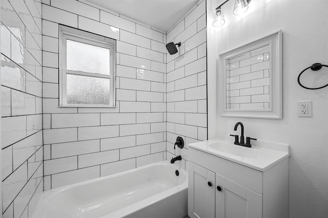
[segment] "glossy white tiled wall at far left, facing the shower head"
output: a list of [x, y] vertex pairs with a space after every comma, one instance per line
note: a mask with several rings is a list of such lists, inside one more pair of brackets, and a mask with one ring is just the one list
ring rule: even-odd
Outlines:
[[28, 217], [43, 191], [42, 6], [1, 0], [3, 217]]

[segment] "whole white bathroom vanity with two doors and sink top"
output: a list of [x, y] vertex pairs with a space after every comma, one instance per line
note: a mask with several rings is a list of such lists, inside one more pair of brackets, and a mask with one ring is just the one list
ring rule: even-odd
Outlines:
[[261, 140], [189, 144], [188, 215], [288, 217], [289, 156], [289, 145]]

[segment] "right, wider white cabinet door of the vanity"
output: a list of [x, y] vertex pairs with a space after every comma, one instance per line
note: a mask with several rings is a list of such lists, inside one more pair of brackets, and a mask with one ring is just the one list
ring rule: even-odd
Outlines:
[[215, 218], [262, 217], [262, 194], [218, 174], [215, 180]]

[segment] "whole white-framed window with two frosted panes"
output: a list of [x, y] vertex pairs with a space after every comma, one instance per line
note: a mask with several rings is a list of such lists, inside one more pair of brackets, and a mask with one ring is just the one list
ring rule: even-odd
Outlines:
[[59, 105], [115, 106], [116, 40], [59, 27]]

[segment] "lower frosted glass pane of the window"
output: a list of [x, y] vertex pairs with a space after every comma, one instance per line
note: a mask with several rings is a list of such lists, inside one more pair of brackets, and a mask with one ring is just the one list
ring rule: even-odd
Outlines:
[[110, 103], [110, 79], [67, 74], [67, 104]]

